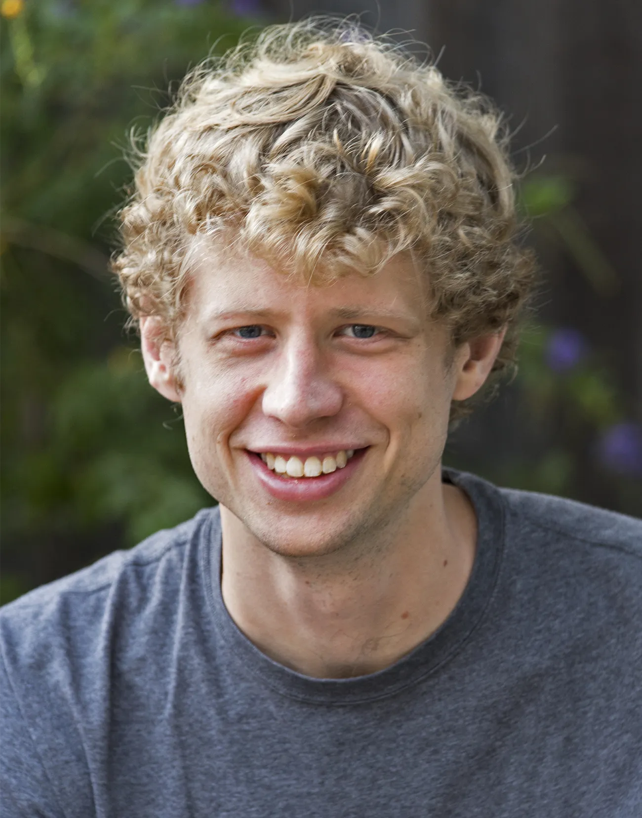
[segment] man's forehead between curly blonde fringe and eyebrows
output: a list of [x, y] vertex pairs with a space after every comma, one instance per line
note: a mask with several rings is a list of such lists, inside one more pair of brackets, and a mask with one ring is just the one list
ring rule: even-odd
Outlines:
[[332, 313], [346, 321], [373, 310], [418, 320], [429, 313], [427, 281], [410, 254], [393, 257], [369, 276], [342, 270], [331, 277], [325, 271], [321, 283], [312, 283], [263, 258], [200, 240], [189, 269], [189, 322], [226, 312]]

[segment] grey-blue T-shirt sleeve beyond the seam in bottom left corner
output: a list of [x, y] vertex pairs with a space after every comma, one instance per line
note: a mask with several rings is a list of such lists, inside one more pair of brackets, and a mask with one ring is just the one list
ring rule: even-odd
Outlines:
[[0, 818], [65, 818], [0, 650]]

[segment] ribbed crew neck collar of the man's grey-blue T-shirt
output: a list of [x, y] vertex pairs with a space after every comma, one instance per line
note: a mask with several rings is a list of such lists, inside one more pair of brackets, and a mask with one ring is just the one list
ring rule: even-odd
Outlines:
[[443, 470], [444, 482], [463, 489], [478, 521], [477, 548], [469, 582], [445, 622], [396, 663], [366, 676], [319, 679], [304, 676], [263, 654], [232, 620], [222, 600], [222, 537], [218, 509], [213, 509], [200, 537], [200, 565], [214, 626], [232, 660], [281, 695], [319, 705], [365, 703], [393, 696], [437, 672], [459, 653], [478, 627], [499, 573], [504, 548], [504, 505], [491, 483], [473, 474]]

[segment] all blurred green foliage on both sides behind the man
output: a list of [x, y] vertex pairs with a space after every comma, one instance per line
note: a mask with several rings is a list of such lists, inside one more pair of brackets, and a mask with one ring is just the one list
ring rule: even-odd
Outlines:
[[[126, 195], [128, 129], [144, 132], [171, 83], [235, 43], [248, 20], [198, 0], [3, 0], [0, 15], [2, 603], [211, 503], [176, 407], [146, 384], [135, 339], [123, 335], [105, 214]], [[573, 196], [567, 179], [542, 176], [524, 185], [523, 206], [607, 297], [617, 277]], [[617, 426], [626, 401], [598, 355], [580, 342], [573, 357], [572, 336], [556, 363], [554, 335], [528, 330], [513, 387], [518, 422], [539, 433], [533, 451], [487, 457], [480, 470], [581, 496], [577, 452], [593, 457], [591, 441], [619, 429], [613, 504], [633, 508], [635, 457], [620, 451], [631, 429]]]

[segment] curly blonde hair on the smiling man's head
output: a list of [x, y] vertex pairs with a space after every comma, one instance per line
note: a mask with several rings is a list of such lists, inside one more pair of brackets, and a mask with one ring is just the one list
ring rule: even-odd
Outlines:
[[410, 251], [454, 344], [508, 326], [505, 371], [533, 277], [507, 150], [485, 97], [385, 38], [272, 25], [191, 72], [137, 154], [113, 260], [132, 321], [175, 335], [191, 236], [233, 235], [313, 283]]

